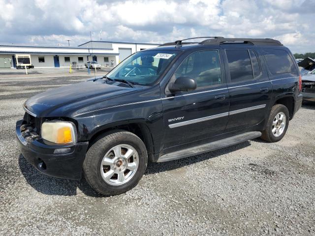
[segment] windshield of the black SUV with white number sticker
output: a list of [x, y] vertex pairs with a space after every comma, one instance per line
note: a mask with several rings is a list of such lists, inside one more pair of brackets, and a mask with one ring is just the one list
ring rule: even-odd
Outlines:
[[134, 84], [152, 85], [177, 55], [177, 51], [142, 51], [118, 64], [106, 76]]

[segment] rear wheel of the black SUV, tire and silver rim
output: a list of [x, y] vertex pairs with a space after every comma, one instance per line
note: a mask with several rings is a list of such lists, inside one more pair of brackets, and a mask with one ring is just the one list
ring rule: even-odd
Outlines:
[[289, 125], [289, 118], [289, 111], [286, 106], [274, 105], [270, 111], [266, 129], [262, 131], [261, 139], [270, 143], [282, 140]]

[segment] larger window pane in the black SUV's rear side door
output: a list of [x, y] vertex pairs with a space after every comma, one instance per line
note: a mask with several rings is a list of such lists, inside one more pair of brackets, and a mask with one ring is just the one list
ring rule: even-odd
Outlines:
[[252, 64], [247, 49], [228, 49], [226, 56], [232, 83], [253, 79]]

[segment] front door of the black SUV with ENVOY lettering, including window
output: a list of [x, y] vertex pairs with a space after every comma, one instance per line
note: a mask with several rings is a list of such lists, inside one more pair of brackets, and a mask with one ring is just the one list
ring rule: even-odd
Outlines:
[[183, 60], [170, 83], [188, 76], [197, 89], [162, 96], [165, 137], [163, 148], [171, 148], [223, 133], [228, 121], [228, 89], [218, 50], [199, 51]]

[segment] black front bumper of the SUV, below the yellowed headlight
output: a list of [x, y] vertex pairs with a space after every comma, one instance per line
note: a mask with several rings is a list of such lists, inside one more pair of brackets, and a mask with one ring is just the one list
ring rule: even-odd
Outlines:
[[[16, 137], [19, 148], [32, 166], [41, 173], [68, 179], [81, 179], [82, 165], [89, 143], [75, 145], [47, 145], [41, 139], [27, 141], [21, 132], [23, 120], [16, 122]], [[68, 153], [54, 154], [55, 149], [70, 148]]]

